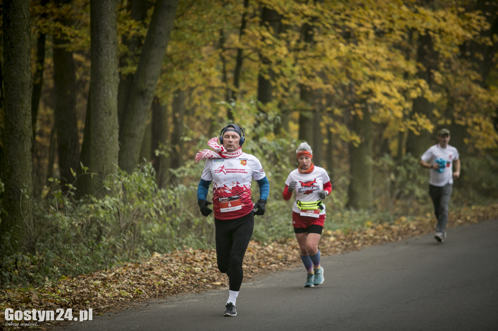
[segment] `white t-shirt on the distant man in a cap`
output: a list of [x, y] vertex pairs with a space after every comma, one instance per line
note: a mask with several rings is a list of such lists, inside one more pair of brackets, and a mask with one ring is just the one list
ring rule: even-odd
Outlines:
[[448, 183], [453, 184], [453, 161], [458, 160], [459, 154], [455, 147], [447, 145], [442, 148], [437, 145], [429, 147], [424, 154], [422, 154], [422, 161], [432, 164], [437, 159], [446, 161], [446, 167], [443, 172], [431, 169], [429, 174], [429, 184], [433, 186], [442, 187]]

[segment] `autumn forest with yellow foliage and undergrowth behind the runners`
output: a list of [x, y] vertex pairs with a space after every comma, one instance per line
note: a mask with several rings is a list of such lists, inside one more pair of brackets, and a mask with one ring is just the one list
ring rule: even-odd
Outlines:
[[232, 122], [270, 181], [260, 241], [292, 236], [301, 141], [332, 229], [430, 212], [418, 159], [442, 127], [455, 204], [498, 198], [495, 1], [102, 2], [2, 1], [4, 283], [212, 245], [194, 157]]

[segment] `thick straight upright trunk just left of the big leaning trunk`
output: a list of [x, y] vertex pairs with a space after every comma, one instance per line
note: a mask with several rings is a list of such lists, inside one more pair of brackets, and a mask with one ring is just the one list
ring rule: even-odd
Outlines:
[[[118, 169], [118, 43], [114, 1], [90, 1], [90, 192]], [[137, 156], [138, 157], [138, 156]]]

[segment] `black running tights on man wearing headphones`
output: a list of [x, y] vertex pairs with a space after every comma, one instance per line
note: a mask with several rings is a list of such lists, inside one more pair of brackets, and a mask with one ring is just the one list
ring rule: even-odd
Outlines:
[[235, 220], [218, 220], [216, 226], [216, 257], [218, 270], [229, 277], [231, 291], [239, 291], [244, 278], [242, 261], [254, 230], [254, 213]]

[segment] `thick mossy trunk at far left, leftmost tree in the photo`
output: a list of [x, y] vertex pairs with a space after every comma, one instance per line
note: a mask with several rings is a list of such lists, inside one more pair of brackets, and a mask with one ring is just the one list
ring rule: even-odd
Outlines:
[[34, 253], [31, 31], [28, 0], [3, 1], [4, 122], [0, 256]]

